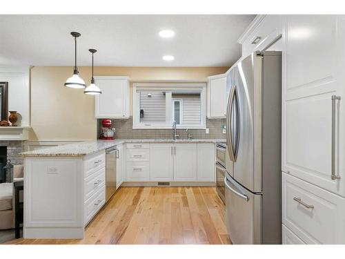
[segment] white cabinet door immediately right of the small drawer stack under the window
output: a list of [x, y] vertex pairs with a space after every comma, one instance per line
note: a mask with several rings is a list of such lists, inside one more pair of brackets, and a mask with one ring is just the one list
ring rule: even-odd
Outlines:
[[150, 144], [150, 180], [170, 181], [173, 179], [173, 145]]

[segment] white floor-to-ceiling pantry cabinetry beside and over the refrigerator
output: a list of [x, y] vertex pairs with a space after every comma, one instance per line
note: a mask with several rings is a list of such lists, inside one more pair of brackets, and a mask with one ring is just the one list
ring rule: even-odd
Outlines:
[[282, 242], [345, 244], [345, 16], [259, 15], [239, 41], [282, 50]]

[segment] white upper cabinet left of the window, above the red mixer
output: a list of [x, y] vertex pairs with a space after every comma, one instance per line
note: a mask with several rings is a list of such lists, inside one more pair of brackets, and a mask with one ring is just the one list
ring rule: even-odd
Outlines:
[[127, 119], [129, 117], [129, 77], [95, 77], [101, 95], [95, 96], [95, 117]]

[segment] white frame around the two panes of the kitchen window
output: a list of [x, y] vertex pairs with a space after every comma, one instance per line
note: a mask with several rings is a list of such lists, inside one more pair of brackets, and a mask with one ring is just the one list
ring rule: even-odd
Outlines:
[[[166, 122], [140, 122], [138, 90], [166, 92]], [[172, 92], [200, 93], [200, 124], [177, 124], [176, 128], [206, 128], [206, 83], [134, 83], [132, 87], [132, 128], [172, 128]]]

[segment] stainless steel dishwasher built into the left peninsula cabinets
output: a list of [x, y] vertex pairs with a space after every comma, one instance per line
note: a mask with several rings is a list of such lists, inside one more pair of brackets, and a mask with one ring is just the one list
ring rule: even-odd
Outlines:
[[106, 149], [106, 202], [116, 191], [117, 158], [119, 150], [116, 146]]

